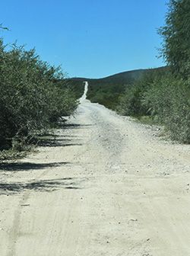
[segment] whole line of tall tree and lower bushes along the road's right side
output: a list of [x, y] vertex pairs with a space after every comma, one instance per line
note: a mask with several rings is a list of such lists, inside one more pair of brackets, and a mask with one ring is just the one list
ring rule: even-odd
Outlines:
[[147, 72], [120, 98], [119, 112], [150, 116], [163, 124], [173, 139], [190, 142], [190, 2], [171, 0], [163, 37], [167, 68]]

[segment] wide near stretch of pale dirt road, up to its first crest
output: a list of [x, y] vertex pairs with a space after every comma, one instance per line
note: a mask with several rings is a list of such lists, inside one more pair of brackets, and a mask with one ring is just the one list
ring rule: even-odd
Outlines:
[[0, 171], [1, 256], [190, 255], [189, 146], [82, 101]]

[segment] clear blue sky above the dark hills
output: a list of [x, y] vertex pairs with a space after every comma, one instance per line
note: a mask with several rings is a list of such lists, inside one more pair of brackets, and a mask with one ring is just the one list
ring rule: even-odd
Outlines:
[[5, 43], [17, 40], [70, 77], [100, 78], [163, 66], [157, 59], [166, 0], [8, 0]]

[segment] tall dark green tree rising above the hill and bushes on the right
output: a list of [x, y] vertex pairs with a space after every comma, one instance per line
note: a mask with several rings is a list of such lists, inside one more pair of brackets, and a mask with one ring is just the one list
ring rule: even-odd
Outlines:
[[161, 27], [162, 55], [173, 72], [190, 75], [190, 1], [170, 0], [166, 26]]

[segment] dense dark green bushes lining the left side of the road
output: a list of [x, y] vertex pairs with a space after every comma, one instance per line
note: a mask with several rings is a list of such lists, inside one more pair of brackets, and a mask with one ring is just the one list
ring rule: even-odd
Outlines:
[[43, 62], [35, 50], [0, 40], [0, 149], [30, 142], [78, 105], [59, 68]]

